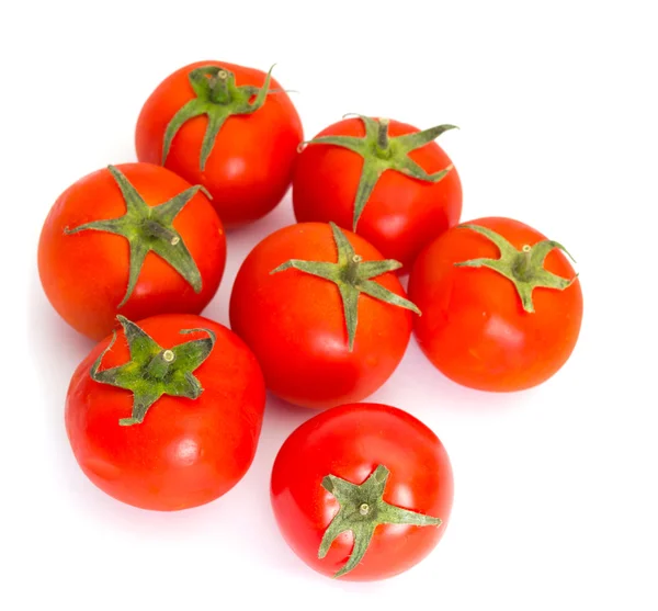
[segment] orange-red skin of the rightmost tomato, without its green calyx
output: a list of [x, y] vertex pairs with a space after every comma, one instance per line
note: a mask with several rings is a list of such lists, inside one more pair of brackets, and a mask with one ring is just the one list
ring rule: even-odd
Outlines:
[[[546, 239], [510, 218], [472, 224], [492, 229], [518, 249]], [[418, 257], [409, 276], [409, 294], [423, 313], [415, 321], [418, 343], [444, 375], [464, 386], [495, 392], [536, 386], [564, 365], [576, 346], [582, 320], [580, 282], [561, 292], [535, 288], [535, 312], [527, 313], [504, 276], [454, 265], [477, 258], [497, 259], [498, 248], [483, 235], [457, 227]], [[567, 279], [576, 275], [558, 250], [548, 254], [544, 268]]]

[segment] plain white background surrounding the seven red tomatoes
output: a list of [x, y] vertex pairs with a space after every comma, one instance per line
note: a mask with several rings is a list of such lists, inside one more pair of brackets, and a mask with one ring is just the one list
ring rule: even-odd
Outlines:
[[[0, 609], [658, 609], [653, 4], [3, 3]], [[135, 159], [141, 103], [198, 59], [275, 61], [307, 136], [345, 112], [460, 125], [441, 144], [463, 180], [463, 219], [517, 217], [578, 261], [580, 341], [543, 386], [461, 388], [412, 342], [373, 397], [435, 430], [455, 475], [443, 541], [392, 580], [316, 575], [277, 533], [270, 468], [308, 411], [270, 401], [245, 479], [178, 513], [114, 501], [68, 446], [66, 388], [91, 342], [42, 294], [42, 223], [70, 183]], [[229, 236], [206, 315], [228, 321], [241, 259], [292, 222], [286, 199]]]

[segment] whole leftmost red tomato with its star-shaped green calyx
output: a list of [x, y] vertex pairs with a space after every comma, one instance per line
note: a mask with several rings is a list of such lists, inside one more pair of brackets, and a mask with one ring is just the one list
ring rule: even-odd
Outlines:
[[38, 245], [48, 299], [97, 340], [117, 314], [198, 314], [217, 292], [225, 260], [222, 222], [200, 186], [150, 163], [110, 166], [69, 186]]

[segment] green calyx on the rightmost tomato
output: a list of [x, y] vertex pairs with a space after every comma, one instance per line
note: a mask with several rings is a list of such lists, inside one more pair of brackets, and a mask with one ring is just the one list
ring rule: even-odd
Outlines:
[[464, 229], [476, 231], [492, 241], [500, 250], [499, 259], [472, 259], [455, 263], [457, 268], [489, 268], [511, 280], [521, 297], [523, 309], [533, 313], [534, 304], [532, 292], [537, 286], [544, 288], [555, 288], [564, 291], [569, 287], [578, 274], [571, 279], [561, 278], [544, 269], [544, 261], [548, 253], [554, 249], [565, 252], [571, 260], [567, 249], [559, 242], [553, 240], [542, 240], [534, 246], [525, 245], [521, 250], [517, 250], [500, 234], [480, 227], [479, 225], [460, 225]]

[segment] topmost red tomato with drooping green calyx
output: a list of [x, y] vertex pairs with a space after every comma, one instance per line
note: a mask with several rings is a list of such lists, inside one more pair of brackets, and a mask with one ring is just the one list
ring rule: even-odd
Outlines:
[[135, 144], [140, 161], [203, 184], [224, 225], [234, 227], [282, 200], [302, 137], [297, 111], [276, 80], [253, 68], [198, 61], [151, 93]]

